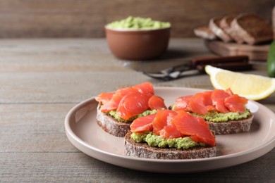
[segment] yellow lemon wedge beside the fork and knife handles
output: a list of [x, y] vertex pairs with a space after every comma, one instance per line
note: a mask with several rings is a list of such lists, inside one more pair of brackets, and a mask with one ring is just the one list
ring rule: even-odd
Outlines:
[[253, 101], [265, 99], [275, 92], [275, 78], [233, 72], [211, 65], [205, 67], [205, 72], [215, 89], [230, 88], [234, 94]]

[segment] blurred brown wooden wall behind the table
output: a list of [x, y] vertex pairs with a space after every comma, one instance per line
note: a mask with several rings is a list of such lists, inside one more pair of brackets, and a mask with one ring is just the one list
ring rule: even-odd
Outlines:
[[105, 37], [104, 25], [128, 15], [167, 21], [171, 37], [226, 13], [256, 13], [271, 23], [274, 0], [0, 0], [0, 38]]

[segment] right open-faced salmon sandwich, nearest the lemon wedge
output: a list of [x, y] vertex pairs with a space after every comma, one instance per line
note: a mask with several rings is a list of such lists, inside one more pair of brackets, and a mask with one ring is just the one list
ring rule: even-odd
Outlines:
[[170, 108], [204, 118], [215, 134], [233, 134], [250, 130], [253, 115], [246, 108], [247, 101], [231, 89], [214, 89], [178, 97]]

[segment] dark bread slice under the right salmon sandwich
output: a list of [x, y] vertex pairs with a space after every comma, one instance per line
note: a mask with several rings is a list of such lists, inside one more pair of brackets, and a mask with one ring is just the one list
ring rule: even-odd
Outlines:
[[226, 122], [209, 122], [209, 129], [215, 134], [236, 134], [240, 132], [248, 132], [254, 115], [250, 115], [243, 120], [230, 120]]

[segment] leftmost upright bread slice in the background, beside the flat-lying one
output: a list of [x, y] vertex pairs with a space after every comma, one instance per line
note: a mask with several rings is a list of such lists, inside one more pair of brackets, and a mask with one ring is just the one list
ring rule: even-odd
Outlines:
[[230, 42], [232, 40], [231, 37], [228, 34], [226, 34], [226, 32], [223, 29], [221, 29], [220, 23], [221, 18], [211, 18], [209, 20], [209, 29], [212, 30], [216, 37], [219, 37], [222, 41]]

